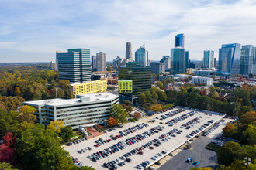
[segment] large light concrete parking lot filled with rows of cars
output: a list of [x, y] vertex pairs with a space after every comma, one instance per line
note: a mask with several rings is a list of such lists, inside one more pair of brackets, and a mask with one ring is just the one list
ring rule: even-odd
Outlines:
[[[192, 110], [184, 110], [174, 114], [174, 111], [178, 109], [180, 108], [173, 108], [151, 117], [143, 117], [140, 121], [125, 124], [123, 128], [116, 128], [116, 130], [102, 134], [99, 137], [91, 138], [76, 145], [64, 146], [64, 149], [74, 158], [78, 158], [85, 165], [92, 166], [95, 169], [106, 169], [103, 164], [108, 162], [115, 165], [112, 166], [113, 169], [137, 168], [137, 165], [139, 165], [138, 168], [144, 168], [144, 166], [149, 166], [168, 155], [170, 151], [175, 150], [202, 131], [206, 131], [206, 128], [224, 117], [221, 114], [206, 114], [201, 111], [192, 113]], [[169, 116], [163, 116], [166, 114], [169, 114]], [[150, 122], [152, 120], [155, 121]], [[139, 128], [131, 129], [136, 125]], [[202, 125], [204, 128], [201, 128]], [[130, 130], [128, 130], [129, 128]], [[123, 131], [123, 135], [119, 133], [120, 131]], [[119, 137], [119, 135], [123, 137]], [[110, 136], [116, 137], [116, 139], [113, 140]], [[99, 141], [99, 138], [102, 138], [102, 140], [112, 139], [112, 141], [95, 147], [95, 141]], [[92, 150], [78, 153], [82, 148], [88, 147]], [[96, 154], [97, 152], [98, 154]], [[102, 158], [99, 155], [102, 155]], [[130, 162], [124, 161], [122, 156], [123, 159], [130, 158]], [[92, 159], [93, 157], [97, 160]], [[143, 162], [144, 166], [141, 166]]]

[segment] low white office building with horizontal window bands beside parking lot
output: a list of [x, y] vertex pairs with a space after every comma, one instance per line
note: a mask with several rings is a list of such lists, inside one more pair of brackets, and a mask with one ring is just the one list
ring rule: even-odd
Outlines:
[[36, 123], [50, 124], [50, 121], [64, 121], [65, 126], [78, 129], [106, 125], [109, 110], [118, 104], [118, 96], [112, 93], [91, 93], [76, 99], [50, 99], [23, 102], [36, 109]]

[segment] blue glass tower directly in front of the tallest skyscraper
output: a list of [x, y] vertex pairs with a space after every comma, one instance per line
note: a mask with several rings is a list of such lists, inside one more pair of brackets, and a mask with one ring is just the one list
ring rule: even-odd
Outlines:
[[171, 73], [184, 73], [185, 71], [185, 49], [179, 47], [171, 49]]

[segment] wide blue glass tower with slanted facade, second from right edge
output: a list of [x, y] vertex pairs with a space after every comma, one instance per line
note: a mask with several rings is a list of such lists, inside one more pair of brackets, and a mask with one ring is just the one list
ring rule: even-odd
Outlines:
[[240, 44], [223, 44], [219, 49], [218, 73], [240, 74]]

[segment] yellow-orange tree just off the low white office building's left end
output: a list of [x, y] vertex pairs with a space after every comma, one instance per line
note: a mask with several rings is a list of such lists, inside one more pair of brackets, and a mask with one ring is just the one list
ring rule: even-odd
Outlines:
[[19, 109], [19, 121], [33, 122], [36, 121], [35, 108], [32, 106], [22, 106]]

